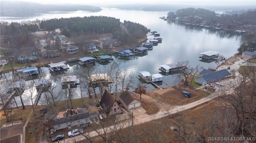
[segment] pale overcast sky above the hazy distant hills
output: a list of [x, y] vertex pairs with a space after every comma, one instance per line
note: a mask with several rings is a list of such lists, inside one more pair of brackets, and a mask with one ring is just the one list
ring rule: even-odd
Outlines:
[[41, 4], [85, 4], [85, 5], [110, 5], [110, 4], [189, 4], [189, 5], [252, 5], [256, 7], [256, 0], [16, 0], [36, 2]]

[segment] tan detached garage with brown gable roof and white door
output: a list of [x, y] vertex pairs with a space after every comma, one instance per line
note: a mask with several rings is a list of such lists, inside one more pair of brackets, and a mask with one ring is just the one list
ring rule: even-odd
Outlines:
[[120, 95], [120, 102], [126, 109], [132, 109], [141, 106], [141, 100], [128, 90]]

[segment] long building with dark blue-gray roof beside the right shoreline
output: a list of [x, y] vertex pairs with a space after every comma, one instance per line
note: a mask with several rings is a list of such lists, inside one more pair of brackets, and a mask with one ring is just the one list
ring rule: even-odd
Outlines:
[[203, 85], [203, 84], [207, 84], [210, 82], [216, 82], [216, 81], [222, 80], [224, 78], [229, 77], [230, 75], [231, 75], [231, 73], [228, 70], [223, 69], [220, 71], [210, 72], [208, 74], [197, 76], [197, 77], [195, 77], [195, 82]]

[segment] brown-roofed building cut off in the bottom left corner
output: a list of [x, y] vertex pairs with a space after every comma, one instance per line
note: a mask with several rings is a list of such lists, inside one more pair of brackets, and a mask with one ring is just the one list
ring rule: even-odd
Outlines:
[[10, 125], [8, 127], [2, 127], [0, 129], [0, 142], [1, 143], [24, 143], [22, 141], [23, 136], [23, 123]]

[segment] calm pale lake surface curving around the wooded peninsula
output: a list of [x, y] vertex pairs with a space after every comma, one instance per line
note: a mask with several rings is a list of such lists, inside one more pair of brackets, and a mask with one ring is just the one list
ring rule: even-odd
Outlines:
[[[167, 16], [168, 12], [144, 12], [140, 10], [118, 10], [118, 9], [103, 9], [100, 12], [49, 12], [43, 14], [36, 14], [32, 17], [1, 17], [1, 20], [8, 22], [21, 22], [23, 20], [39, 20], [50, 18], [70, 18], [70, 17], [84, 17], [84, 16], [108, 16], [124, 20], [137, 22], [145, 25], [151, 31], [160, 33], [162, 43], [153, 46], [152, 51], [148, 51], [145, 56], [133, 56], [129, 58], [121, 58], [118, 54], [112, 55], [113, 62], [117, 63], [120, 69], [126, 69], [128, 72], [133, 72], [134, 90], [138, 83], [138, 72], [148, 71], [151, 74], [157, 74], [159, 65], [167, 65], [181, 61], [190, 61], [190, 66], [195, 67], [201, 65], [204, 68], [208, 66], [217, 67], [216, 63], [204, 63], [200, 61], [199, 53], [205, 51], [216, 51], [226, 58], [231, 57], [237, 53], [240, 46], [240, 41], [244, 35], [235, 34], [232, 31], [214, 31], [210, 29], [203, 29], [199, 27], [185, 26], [175, 21], [164, 21], [159, 17]], [[104, 71], [104, 65], [96, 63], [96, 68]], [[71, 73], [74, 69], [80, 68], [77, 65], [70, 67]], [[176, 84], [175, 75], [163, 75], [163, 82], [161, 87], [171, 86]], [[166, 84], [165, 84], [166, 83]], [[114, 87], [114, 86], [113, 86]], [[151, 84], [147, 85], [147, 90], [155, 89]], [[79, 98], [79, 96], [73, 97]]]

